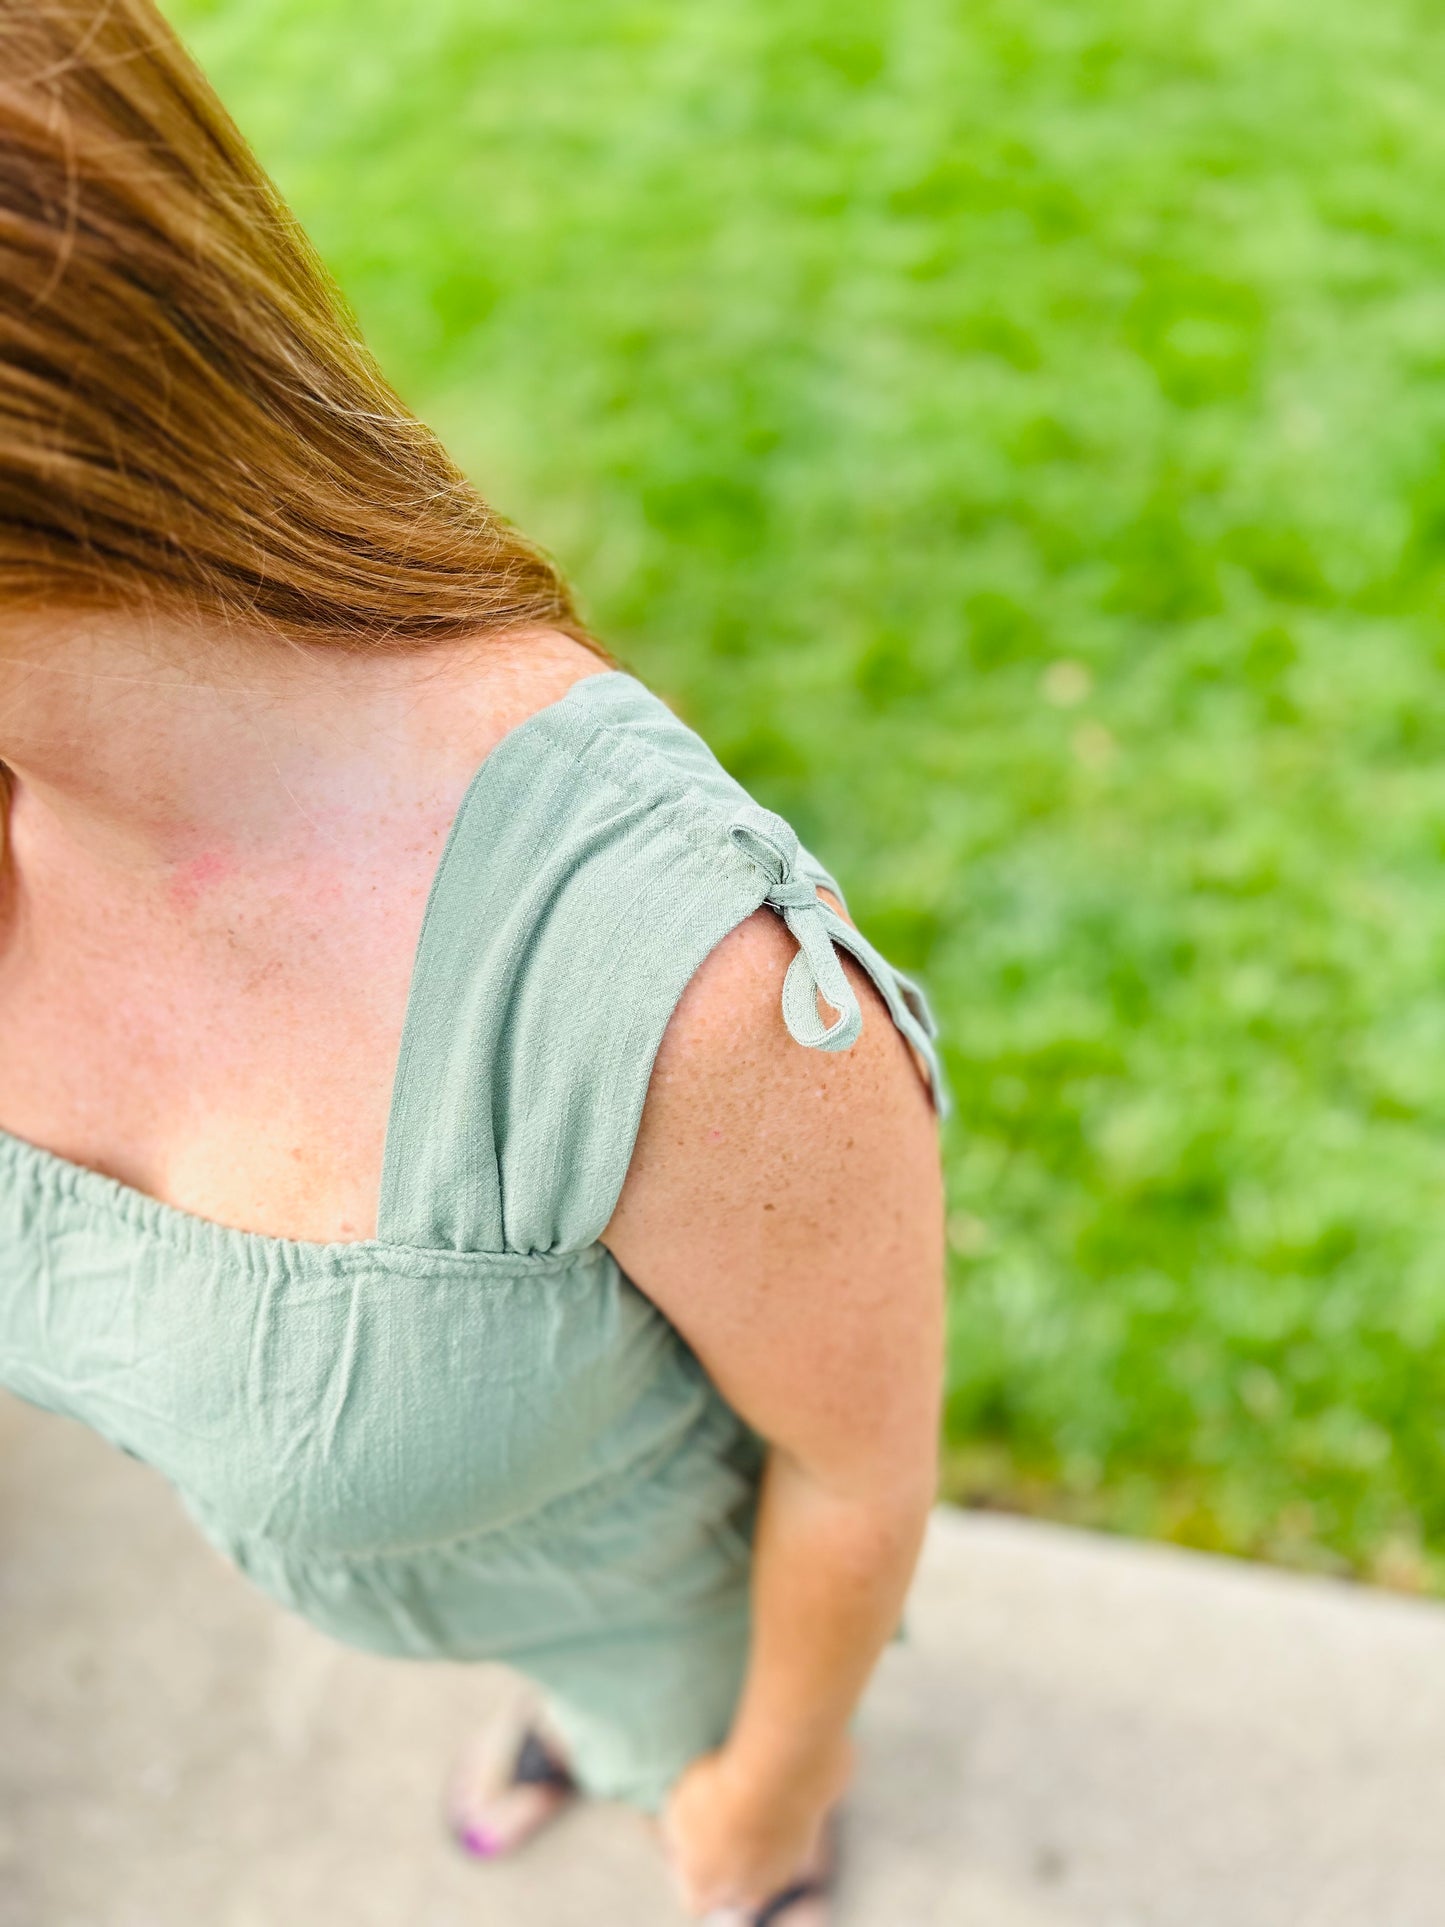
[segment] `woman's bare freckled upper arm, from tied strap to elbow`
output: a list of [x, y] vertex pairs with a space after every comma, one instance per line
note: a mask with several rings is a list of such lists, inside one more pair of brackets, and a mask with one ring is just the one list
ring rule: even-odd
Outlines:
[[603, 1231], [719, 1391], [838, 1490], [931, 1476], [942, 1376], [938, 1123], [867, 971], [850, 1050], [782, 1023], [761, 910], [688, 985]]

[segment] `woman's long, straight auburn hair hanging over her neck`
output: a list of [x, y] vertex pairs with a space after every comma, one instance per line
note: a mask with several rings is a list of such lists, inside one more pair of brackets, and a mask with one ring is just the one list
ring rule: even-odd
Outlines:
[[0, 615], [35, 607], [591, 644], [150, 0], [0, 0]]

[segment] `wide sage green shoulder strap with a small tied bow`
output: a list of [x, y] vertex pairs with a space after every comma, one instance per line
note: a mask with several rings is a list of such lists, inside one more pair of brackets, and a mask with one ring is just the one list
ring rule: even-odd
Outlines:
[[859, 1035], [842, 944], [929, 1064], [942, 1110], [923, 994], [819, 900], [819, 883], [840, 894], [792, 827], [624, 673], [574, 684], [503, 738], [453, 825], [422, 929], [380, 1237], [593, 1243], [672, 1010], [761, 904], [798, 938], [782, 989], [794, 1039], [846, 1050]]

